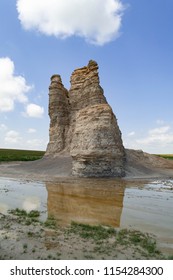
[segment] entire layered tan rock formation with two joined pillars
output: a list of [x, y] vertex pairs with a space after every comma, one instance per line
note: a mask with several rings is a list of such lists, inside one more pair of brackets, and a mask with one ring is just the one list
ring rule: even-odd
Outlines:
[[124, 176], [121, 132], [100, 86], [95, 61], [72, 73], [69, 91], [59, 75], [51, 77], [49, 116], [46, 156], [71, 156], [75, 176]]

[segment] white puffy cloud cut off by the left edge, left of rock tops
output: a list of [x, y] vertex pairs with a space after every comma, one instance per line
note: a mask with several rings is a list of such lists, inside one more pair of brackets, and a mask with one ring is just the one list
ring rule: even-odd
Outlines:
[[15, 102], [26, 103], [28, 100], [25, 94], [32, 87], [22, 76], [15, 76], [14, 70], [10, 58], [0, 58], [0, 112], [12, 111]]

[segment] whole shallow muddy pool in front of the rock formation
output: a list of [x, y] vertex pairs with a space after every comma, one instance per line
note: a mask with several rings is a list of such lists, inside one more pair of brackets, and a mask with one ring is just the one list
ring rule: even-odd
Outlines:
[[173, 181], [78, 179], [57, 183], [0, 178], [0, 212], [41, 211], [41, 219], [138, 229], [156, 235], [173, 253]]

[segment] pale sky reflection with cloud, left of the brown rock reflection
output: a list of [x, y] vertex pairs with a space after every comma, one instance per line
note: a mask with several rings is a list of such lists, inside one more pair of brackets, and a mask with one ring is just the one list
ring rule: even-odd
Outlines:
[[[0, 212], [20, 208], [26, 211], [47, 210], [47, 191], [44, 183], [0, 178]], [[47, 214], [43, 214], [43, 217]]]

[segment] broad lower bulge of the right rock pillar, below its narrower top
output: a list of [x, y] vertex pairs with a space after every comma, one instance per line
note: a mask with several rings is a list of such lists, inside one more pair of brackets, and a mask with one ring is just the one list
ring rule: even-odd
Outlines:
[[122, 176], [124, 148], [112, 109], [107, 104], [78, 112], [71, 144], [72, 172], [83, 176]]

